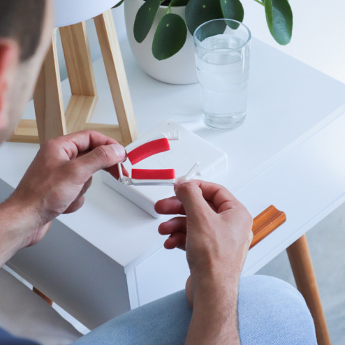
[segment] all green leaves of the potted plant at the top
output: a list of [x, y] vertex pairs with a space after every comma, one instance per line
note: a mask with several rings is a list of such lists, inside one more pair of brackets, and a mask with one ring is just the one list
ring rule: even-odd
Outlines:
[[[133, 0], [126, 0], [133, 1]], [[274, 40], [280, 45], [291, 41], [293, 13], [288, 0], [254, 0], [265, 8], [266, 22]], [[117, 7], [123, 3], [121, 0]], [[240, 0], [145, 0], [135, 16], [133, 33], [135, 41], [145, 40], [151, 29], [159, 6], [167, 6], [166, 14], [158, 24], [152, 42], [152, 54], [158, 60], [176, 54], [186, 42], [187, 28], [193, 35], [195, 29], [208, 20], [228, 18], [242, 22], [244, 9]], [[170, 13], [173, 6], [186, 6], [186, 22], [181, 16]]]

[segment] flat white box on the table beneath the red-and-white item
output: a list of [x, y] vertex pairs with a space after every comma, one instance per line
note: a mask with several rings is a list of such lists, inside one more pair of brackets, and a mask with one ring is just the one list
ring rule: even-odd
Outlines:
[[[138, 140], [132, 142], [129, 147], [136, 147], [143, 142], [152, 140], [157, 135], [172, 131], [179, 131], [179, 140], [169, 142], [170, 151], [148, 157], [135, 164], [135, 168], [173, 168], [175, 169], [176, 176], [182, 176], [186, 175], [194, 163], [199, 162], [200, 166], [192, 178], [207, 181], [213, 181], [223, 172], [226, 172], [228, 169], [228, 157], [225, 152], [170, 120], [156, 126], [149, 133], [142, 135]], [[131, 176], [132, 166], [129, 160], [124, 163], [124, 166]], [[154, 211], [154, 204], [158, 200], [174, 195], [172, 186], [126, 186], [117, 181], [108, 172], [102, 172], [102, 179], [105, 184], [108, 184], [112, 189], [121, 193], [155, 218], [159, 218], [159, 214]]]

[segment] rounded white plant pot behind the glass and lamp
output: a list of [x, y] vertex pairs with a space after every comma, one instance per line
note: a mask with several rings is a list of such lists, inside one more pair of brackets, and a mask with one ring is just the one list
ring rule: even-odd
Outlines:
[[[158, 10], [154, 24], [142, 43], [135, 41], [133, 34], [133, 25], [135, 15], [138, 9], [144, 3], [143, 0], [125, 0], [124, 1], [124, 15], [126, 20], [127, 35], [129, 37], [129, 44], [138, 64], [148, 75], [160, 80], [161, 82], [168, 82], [170, 84], [192, 84], [197, 82], [196, 77], [196, 61], [194, 57], [194, 43], [191, 34], [187, 33], [186, 43], [177, 54], [169, 59], [157, 60], [152, 55], [152, 41], [154, 33], [161, 20], [161, 17], [166, 13], [167, 6], [161, 6]], [[170, 13], [176, 13], [185, 19], [186, 6], [172, 7]]]

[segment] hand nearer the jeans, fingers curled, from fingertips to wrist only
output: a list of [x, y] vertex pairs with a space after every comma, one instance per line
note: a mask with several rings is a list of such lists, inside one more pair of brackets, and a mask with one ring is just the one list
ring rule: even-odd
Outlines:
[[215, 275], [238, 282], [253, 238], [247, 209], [219, 184], [179, 183], [175, 193], [156, 203], [161, 214], [186, 214], [159, 226], [161, 235], [170, 235], [165, 247], [186, 250], [193, 279]]

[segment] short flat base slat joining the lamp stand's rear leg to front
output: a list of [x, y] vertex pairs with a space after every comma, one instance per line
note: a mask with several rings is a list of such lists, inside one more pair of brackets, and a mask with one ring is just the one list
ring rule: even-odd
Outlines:
[[72, 95], [66, 109], [67, 133], [82, 131], [97, 103], [96, 96]]

